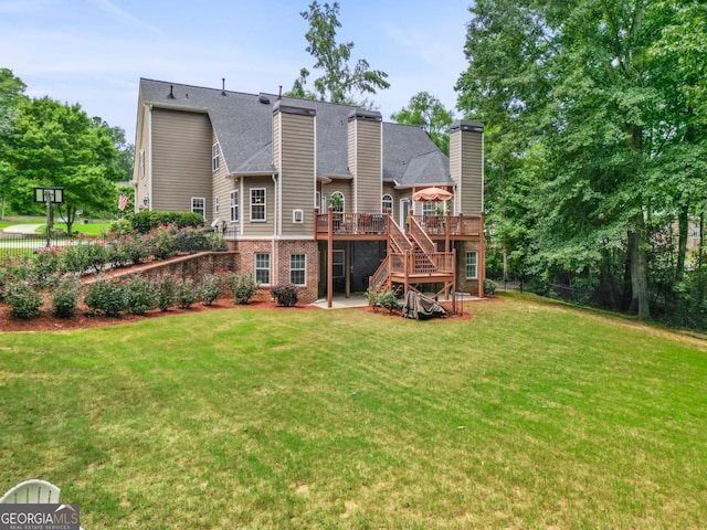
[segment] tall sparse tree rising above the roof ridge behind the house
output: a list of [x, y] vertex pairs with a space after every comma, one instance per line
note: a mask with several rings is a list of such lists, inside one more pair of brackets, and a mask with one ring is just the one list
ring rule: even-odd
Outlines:
[[[309, 31], [305, 34], [309, 43], [306, 50], [316, 60], [314, 70], [321, 71], [323, 75], [314, 80], [314, 89], [307, 89], [305, 85], [310, 72], [302, 68], [292, 91], [287, 93], [288, 96], [356, 104], [355, 95], [366, 98], [367, 95], [390, 86], [386, 81], [388, 74], [380, 70], [370, 70], [365, 59], [359, 59], [352, 67], [350, 66], [354, 42], [338, 44], [336, 41], [337, 28], [341, 28], [338, 2], [319, 6], [315, 0], [309, 4], [308, 11], [299, 14], [309, 22]], [[359, 103], [367, 104], [366, 100]]]

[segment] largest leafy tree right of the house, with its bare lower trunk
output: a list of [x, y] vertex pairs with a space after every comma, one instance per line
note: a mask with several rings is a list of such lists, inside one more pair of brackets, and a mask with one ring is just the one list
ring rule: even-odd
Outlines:
[[[545, 173], [523, 199], [532, 212], [524, 224], [536, 245], [536, 272], [578, 275], [623, 255], [641, 317], [651, 312], [650, 221], [671, 201], [689, 209], [686, 199], [699, 188], [699, 178], [682, 194], [684, 178], [656, 186], [657, 174], [671, 180], [669, 160], [683, 176], [699, 173], [704, 148], [688, 126], [695, 112], [687, 95], [675, 96], [680, 84], [699, 83], [692, 67], [662, 59], [695, 59], [693, 44], [676, 47], [674, 39], [679, 17], [699, 29], [695, 3], [478, 0], [471, 8], [469, 66], [457, 83], [460, 108], [495, 125], [488, 142], [500, 147], [488, 151], [488, 166], [509, 173], [488, 171], [488, 183], [500, 198], [496, 184], [521, 180], [541, 153]], [[704, 35], [696, 38], [700, 45]], [[696, 100], [694, 89], [687, 93]], [[678, 137], [693, 146], [689, 153], [676, 149]]]

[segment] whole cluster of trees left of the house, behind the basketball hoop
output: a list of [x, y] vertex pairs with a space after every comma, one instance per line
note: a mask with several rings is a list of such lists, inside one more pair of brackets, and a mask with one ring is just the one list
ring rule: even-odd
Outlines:
[[80, 212], [117, 213], [118, 193], [131, 191], [116, 187], [133, 173], [134, 148], [125, 131], [89, 118], [78, 104], [30, 98], [25, 89], [11, 70], [0, 68], [1, 215], [42, 214], [35, 187], [64, 188], [57, 210], [70, 234]]

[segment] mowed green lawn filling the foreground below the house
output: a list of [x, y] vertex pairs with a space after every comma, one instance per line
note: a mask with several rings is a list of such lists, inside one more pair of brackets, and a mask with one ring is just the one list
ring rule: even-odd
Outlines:
[[51, 480], [91, 529], [704, 528], [707, 341], [467, 309], [0, 333], [0, 490]]

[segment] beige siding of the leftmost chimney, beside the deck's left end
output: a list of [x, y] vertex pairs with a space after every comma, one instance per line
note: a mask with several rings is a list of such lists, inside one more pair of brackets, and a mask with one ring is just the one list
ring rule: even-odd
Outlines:
[[[277, 119], [279, 118], [279, 119]], [[279, 129], [279, 179], [282, 235], [314, 237], [315, 193], [315, 117], [279, 113], [275, 130]], [[277, 152], [276, 148], [274, 148]], [[278, 163], [275, 159], [275, 163]], [[303, 222], [293, 222], [293, 211], [302, 210]]]

